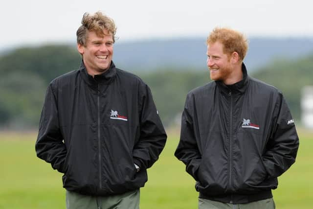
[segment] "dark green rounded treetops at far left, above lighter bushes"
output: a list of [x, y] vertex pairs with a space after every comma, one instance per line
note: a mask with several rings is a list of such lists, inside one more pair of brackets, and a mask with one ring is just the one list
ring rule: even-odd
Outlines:
[[76, 70], [80, 62], [80, 54], [72, 46], [22, 47], [0, 57], [0, 74], [10, 71], [31, 72], [48, 84], [58, 75]]

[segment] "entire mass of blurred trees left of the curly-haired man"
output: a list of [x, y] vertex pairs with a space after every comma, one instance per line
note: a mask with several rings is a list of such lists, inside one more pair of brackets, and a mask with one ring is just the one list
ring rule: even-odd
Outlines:
[[75, 70], [80, 55], [72, 46], [22, 47], [0, 57], [0, 125], [36, 127], [48, 83]]

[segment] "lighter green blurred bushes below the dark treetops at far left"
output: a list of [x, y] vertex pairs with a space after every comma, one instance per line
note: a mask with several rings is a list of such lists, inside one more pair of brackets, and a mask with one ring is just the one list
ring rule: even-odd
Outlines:
[[31, 72], [11, 71], [0, 77], [0, 113], [5, 113], [0, 123], [17, 129], [37, 124], [45, 89], [44, 80]]

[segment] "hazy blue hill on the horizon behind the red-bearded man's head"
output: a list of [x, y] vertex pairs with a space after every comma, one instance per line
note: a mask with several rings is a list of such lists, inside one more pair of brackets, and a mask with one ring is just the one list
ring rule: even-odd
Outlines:
[[[205, 70], [206, 37], [172, 40], [148, 40], [119, 43], [114, 48], [114, 63], [121, 69]], [[269, 61], [284, 57], [297, 59], [313, 52], [313, 38], [251, 38], [245, 64], [250, 71], [257, 70]]]

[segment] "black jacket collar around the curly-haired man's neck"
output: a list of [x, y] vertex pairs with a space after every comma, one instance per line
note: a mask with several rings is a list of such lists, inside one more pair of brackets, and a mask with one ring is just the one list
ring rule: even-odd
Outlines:
[[81, 72], [84, 81], [91, 87], [98, 87], [99, 83], [109, 84], [116, 75], [116, 68], [113, 61], [111, 62], [111, 66], [108, 70], [106, 70], [104, 73], [95, 75], [94, 77], [88, 74], [83, 60], [80, 64], [79, 71]]

